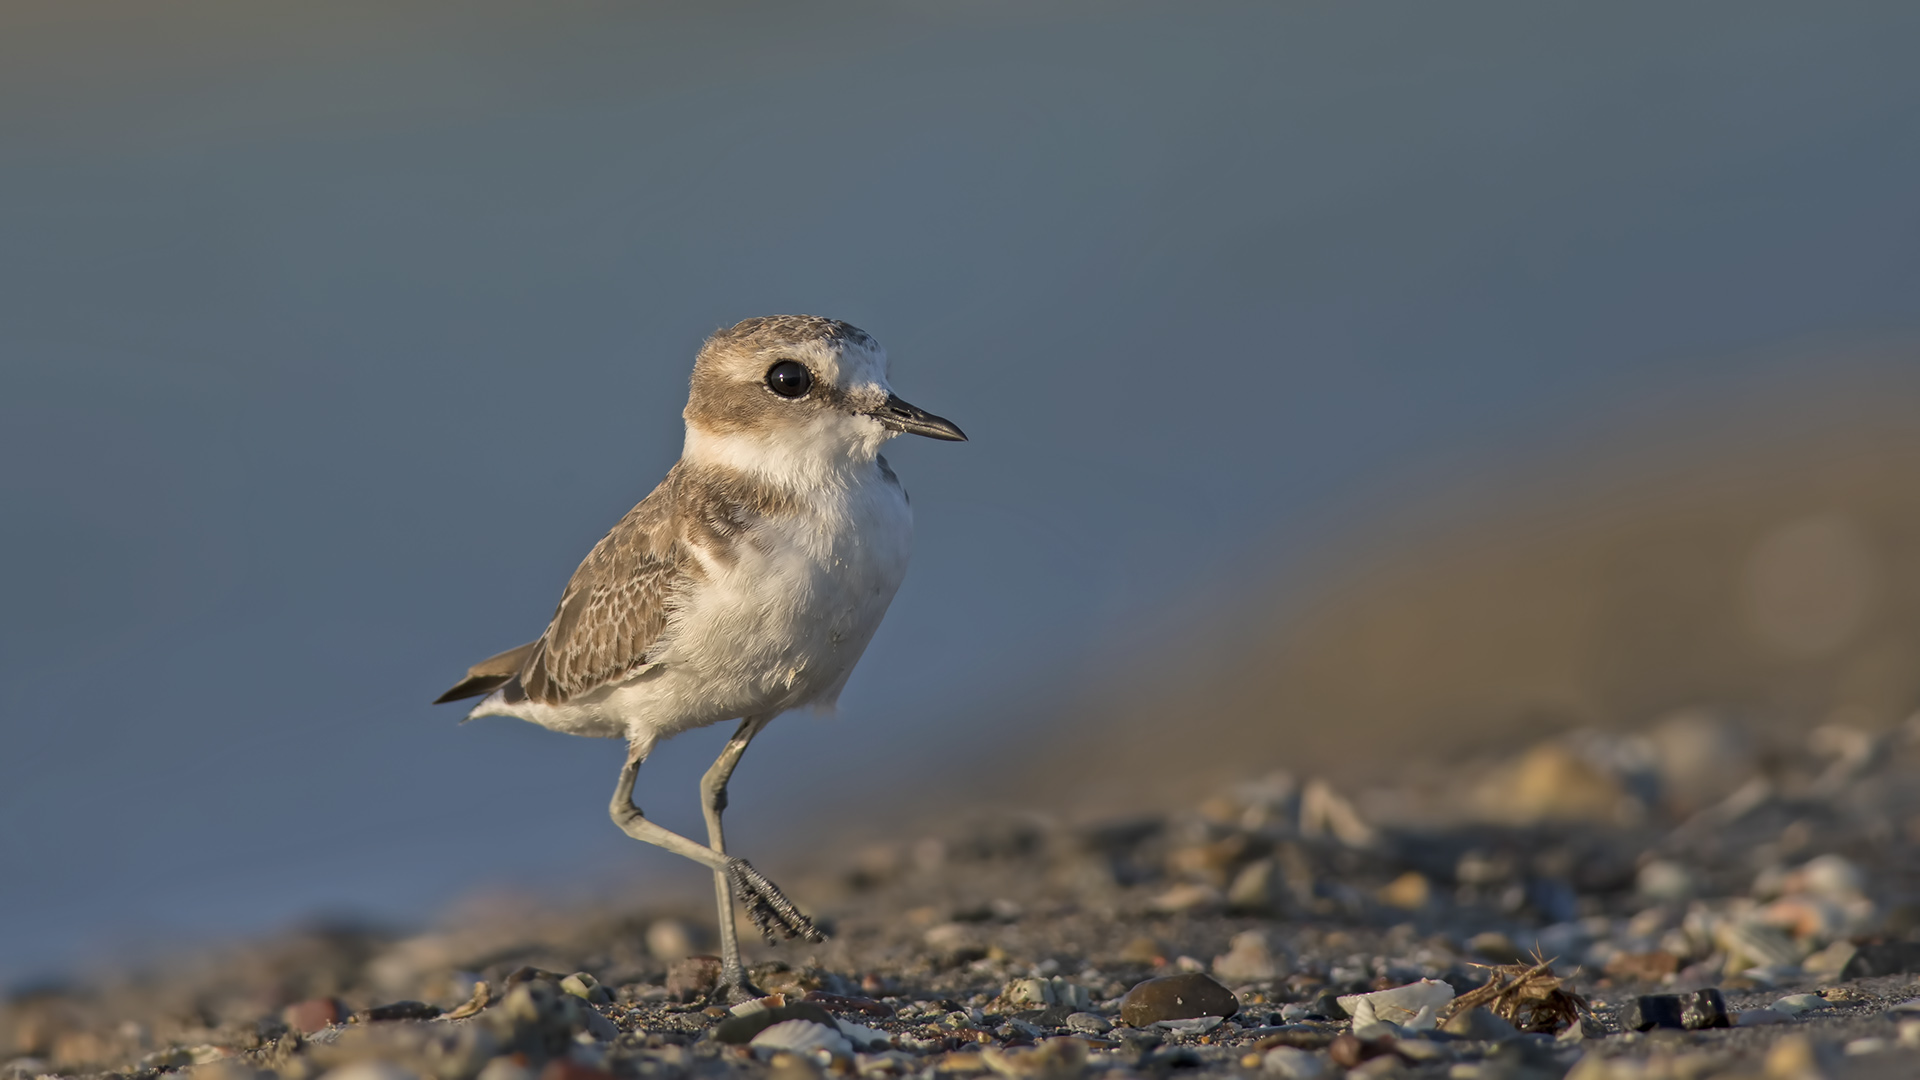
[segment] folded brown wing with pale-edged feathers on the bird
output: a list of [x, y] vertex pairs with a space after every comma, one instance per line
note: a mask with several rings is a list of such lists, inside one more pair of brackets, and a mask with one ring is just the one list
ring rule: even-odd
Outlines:
[[559, 705], [647, 663], [685, 575], [672, 484], [662, 480], [580, 561], [547, 632], [505, 684], [509, 700]]

